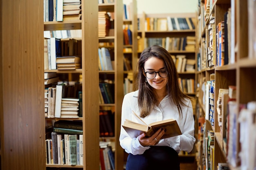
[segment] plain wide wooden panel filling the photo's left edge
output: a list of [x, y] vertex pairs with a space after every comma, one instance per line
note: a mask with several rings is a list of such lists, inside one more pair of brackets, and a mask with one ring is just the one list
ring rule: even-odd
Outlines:
[[0, 2], [2, 170], [45, 170], [42, 5], [34, 0]]

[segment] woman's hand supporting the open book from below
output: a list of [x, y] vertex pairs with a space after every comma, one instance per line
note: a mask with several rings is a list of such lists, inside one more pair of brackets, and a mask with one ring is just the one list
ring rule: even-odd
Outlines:
[[146, 133], [142, 133], [138, 136], [139, 143], [142, 146], [156, 145], [158, 144], [159, 139], [164, 135], [164, 133], [164, 129], [158, 129], [158, 131], [156, 131], [156, 133], [154, 133], [151, 137], [146, 137]]

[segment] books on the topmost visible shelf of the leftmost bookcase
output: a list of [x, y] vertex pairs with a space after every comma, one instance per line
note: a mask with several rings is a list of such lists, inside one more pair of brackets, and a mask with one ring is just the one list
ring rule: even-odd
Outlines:
[[81, 0], [44, 0], [44, 22], [81, 20]]

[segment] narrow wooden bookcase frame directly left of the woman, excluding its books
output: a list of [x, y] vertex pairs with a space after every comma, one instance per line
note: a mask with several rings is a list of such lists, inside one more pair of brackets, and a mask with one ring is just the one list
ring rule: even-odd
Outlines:
[[[121, 127], [121, 105], [124, 94], [123, 87], [123, 2], [115, 1], [114, 3], [103, 3], [98, 4], [99, 11], [107, 11], [114, 13], [114, 36], [106, 36], [100, 37], [99, 43], [101, 42], [110, 42], [114, 44], [113, 46], [105, 46], [110, 50], [111, 60], [113, 61], [114, 70], [111, 71], [99, 71], [98, 77], [100, 81], [112, 80], [115, 82], [115, 90], [114, 90], [114, 98], [115, 101], [113, 104], [100, 104], [98, 107], [97, 113], [99, 113], [99, 109], [102, 110], [112, 110], [115, 112], [115, 135], [114, 137], [100, 137], [100, 141], [114, 142], [114, 150], [115, 153], [115, 169], [123, 169], [124, 166], [124, 153], [123, 149], [119, 145], [119, 134]], [[98, 46], [101, 48], [100, 46]], [[98, 55], [97, 55], [98, 56]], [[98, 68], [99, 69], [99, 68]], [[99, 84], [97, 85], [97, 87]], [[98, 92], [98, 89], [97, 89]], [[97, 94], [98, 95], [98, 94]], [[99, 100], [98, 100], [99, 103]], [[99, 135], [98, 135], [99, 138]]]

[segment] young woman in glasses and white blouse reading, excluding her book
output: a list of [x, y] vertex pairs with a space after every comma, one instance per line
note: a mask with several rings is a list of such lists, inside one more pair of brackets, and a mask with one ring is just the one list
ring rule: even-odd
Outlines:
[[159, 140], [164, 129], [151, 137], [142, 133], [131, 138], [121, 127], [120, 145], [129, 153], [126, 170], [180, 170], [178, 153], [191, 152], [195, 143], [193, 108], [182, 93], [171, 55], [160, 46], [146, 48], [137, 65], [137, 88], [124, 96], [121, 124], [138, 122], [132, 111], [147, 124], [175, 119], [182, 135]]

